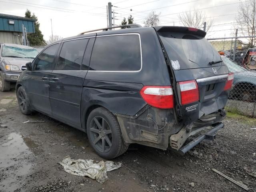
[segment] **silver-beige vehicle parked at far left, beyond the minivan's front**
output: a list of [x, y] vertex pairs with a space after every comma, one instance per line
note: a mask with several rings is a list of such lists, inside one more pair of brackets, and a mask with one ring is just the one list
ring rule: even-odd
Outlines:
[[0, 91], [9, 91], [26, 70], [26, 63], [38, 55], [38, 50], [17, 44], [0, 44]]

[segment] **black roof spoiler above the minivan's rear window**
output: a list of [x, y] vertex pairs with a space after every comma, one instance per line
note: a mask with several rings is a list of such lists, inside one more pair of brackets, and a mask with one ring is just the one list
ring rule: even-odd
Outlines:
[[154, 27], [157, 32], [186, 32], [190, 34], [199, 35], [205, 37], [206, 32], [200, 29], [192, 27], [180, 27], [180, 26], [156, 26]]

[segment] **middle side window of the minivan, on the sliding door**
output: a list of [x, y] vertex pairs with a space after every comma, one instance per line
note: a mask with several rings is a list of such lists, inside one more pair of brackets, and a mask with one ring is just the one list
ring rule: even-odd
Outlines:
[[56, 70], [80, 70], [88, 39], [63, 43]]

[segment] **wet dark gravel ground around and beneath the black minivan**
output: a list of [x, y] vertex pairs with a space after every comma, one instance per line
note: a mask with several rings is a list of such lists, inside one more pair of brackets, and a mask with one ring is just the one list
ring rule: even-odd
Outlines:
[[[27, 120], [45, 122], [22, 124]], [[68, 174], [58, 164], [67, 155], [104, 160], [89, 146], [86, 134], [39, 113], [22, 115], [14, 91], [7, 92], [0, 95], [0, 191], [245, 191], [213, 172], [215, 168], [255, 192], [256, 178], [250, 174], [256, 174], [256, 124], [233, 118], [223, 122], [214, 142], [203, 141], [184, 156], [130, 145], [114, 159], [124, 166], [108, 172], [108, 181], [99, 184]]]

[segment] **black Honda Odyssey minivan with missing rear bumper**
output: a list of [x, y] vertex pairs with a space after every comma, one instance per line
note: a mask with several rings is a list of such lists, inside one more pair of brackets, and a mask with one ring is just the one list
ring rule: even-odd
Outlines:
[[[123, 29], [111, 30], [118, 27]], [[233, 74], [206, 32], [118, 27], [44, 48], [18, 78], [21, 112], [38, 111], [87, 132], [96, 153], [107, 159], [132, 143], [184, 154], [204, 139], [214, 140], [224, 126]]]

